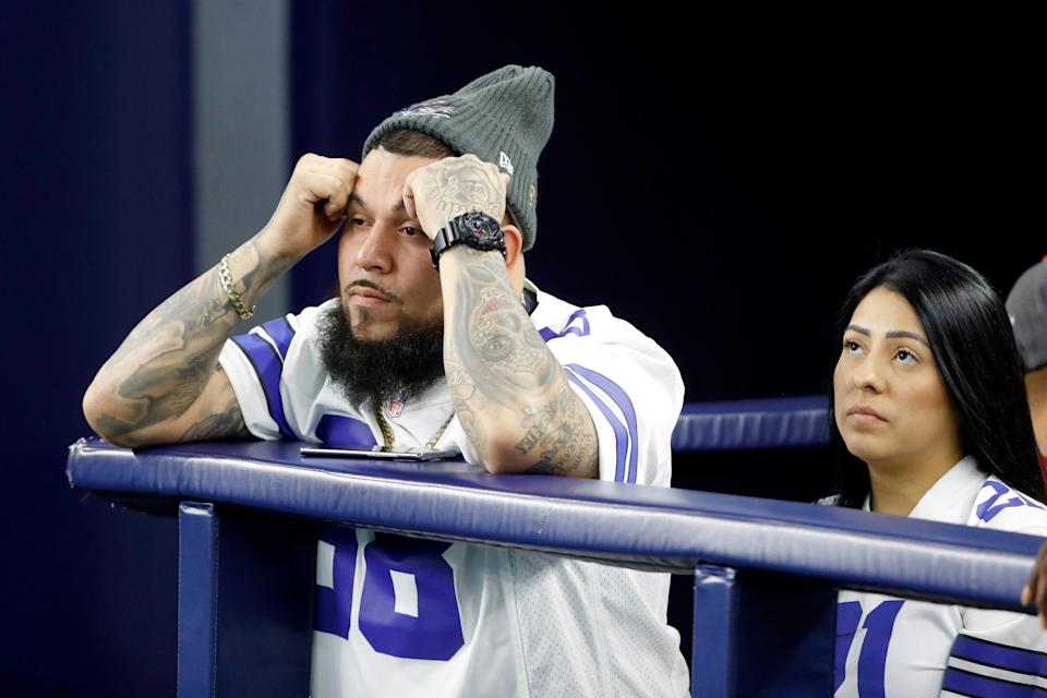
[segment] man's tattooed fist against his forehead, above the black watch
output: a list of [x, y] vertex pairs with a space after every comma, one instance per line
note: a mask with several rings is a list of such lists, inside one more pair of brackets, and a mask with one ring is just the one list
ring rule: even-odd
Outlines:
[[430, 240], [455, 216], [482, 210], [496, 220], [505, 215], [509, 176], [476, 155], [448, 157], [420, 167], [404, 182], [404, 205]]

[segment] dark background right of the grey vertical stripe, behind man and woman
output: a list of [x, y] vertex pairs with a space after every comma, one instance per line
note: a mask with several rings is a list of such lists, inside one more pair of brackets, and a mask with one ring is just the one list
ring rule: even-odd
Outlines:
[[[1019, 16], [420, 4], [377, 26], [361, 5], [293, 8], [293, 149], [359, 159], [397, 108], [507, 62], [551, 70], [529, 276], [655, 337], [689, 399], [820, 388], [837, 304], [900, 246], [959, 256], [1003, 292], [1047, 246]], [[329, 289], [333, 246], [296, 278], [299, 303]]]

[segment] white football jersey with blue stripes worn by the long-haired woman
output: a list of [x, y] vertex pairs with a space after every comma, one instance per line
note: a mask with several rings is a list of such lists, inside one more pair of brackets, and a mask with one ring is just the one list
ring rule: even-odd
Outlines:
[[[910, 517], [1047, 535], [1047, 507], [971, 456]], [[1047, 696], [1047, 630], [1035, 616], [850, 590], [838, 601], [838, 698]]]

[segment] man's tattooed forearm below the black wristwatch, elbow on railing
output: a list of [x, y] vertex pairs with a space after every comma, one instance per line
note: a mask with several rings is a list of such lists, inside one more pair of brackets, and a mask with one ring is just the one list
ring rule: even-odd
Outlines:
[[531, 324], [497, 252], [441, 257], [444, 364], [455, 411], [492, 472], [597, 477], [589, 411]]

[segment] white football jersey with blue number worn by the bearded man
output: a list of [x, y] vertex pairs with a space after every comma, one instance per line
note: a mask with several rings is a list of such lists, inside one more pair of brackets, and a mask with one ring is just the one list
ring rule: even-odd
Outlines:
[[[683, 405], [675, 363], [605, 306], [534, 289], [535, 328], [592, 416], [602, 480], [667, 486]], [[230, 339], [220, 362], [251, 432], [380, 443], [368, 405], [333, 385], [316, 346], [327, 301]], [[397, 446], [423, 446], [453, 414], [441, 382], [383, 406]], [[436, 448], [476, 464], [453, 418]], [[312, 696], [685, 696], [669, 575], [555, 555], [330, 527], [316, 566]]]

